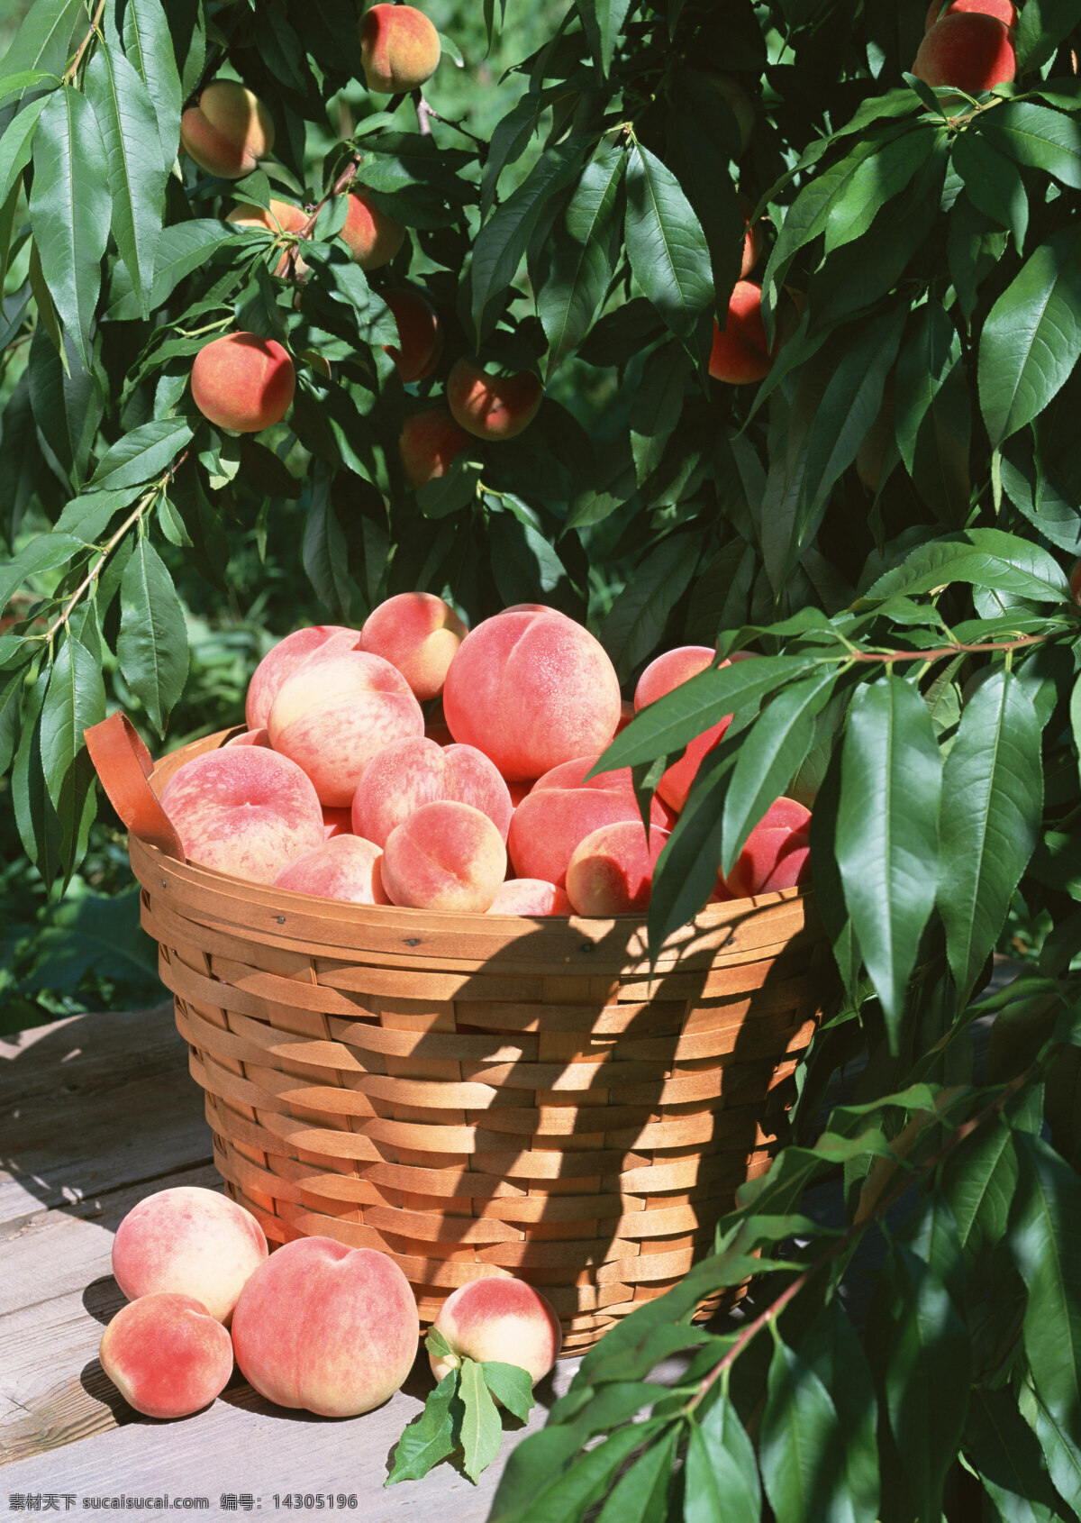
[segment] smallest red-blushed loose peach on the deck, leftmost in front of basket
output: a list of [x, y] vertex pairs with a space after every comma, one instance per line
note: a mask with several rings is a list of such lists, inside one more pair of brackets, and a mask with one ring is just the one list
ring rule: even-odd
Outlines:
[[102, 1369], [148, 1418], [186, 1418], [233, 1374], [228, 1333], [195, 1296], [154, 1292], [120, 1307], [102, 1334]]

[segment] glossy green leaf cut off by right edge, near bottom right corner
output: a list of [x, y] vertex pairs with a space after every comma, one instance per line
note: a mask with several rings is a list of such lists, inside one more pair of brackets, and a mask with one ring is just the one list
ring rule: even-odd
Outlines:
[[[1016, 1133], [1020, 1189], [1009, 1249], [1028, 1285], [1025, 1354], [1035, 1392], [1081, 1433], [1081, 1179], [1041, 1138]], [[1069, 1493], [1067, 1493], [1069, 1494]]]

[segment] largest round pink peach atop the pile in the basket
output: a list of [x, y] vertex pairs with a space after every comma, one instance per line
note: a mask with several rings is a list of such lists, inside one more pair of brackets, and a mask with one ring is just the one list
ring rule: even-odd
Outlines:
[[600, 641], [572, 618], [509, 609], [458, 646], [443, 711], [455, 740], [519, 783], [607, 746], [620, 723], [620, 679]]

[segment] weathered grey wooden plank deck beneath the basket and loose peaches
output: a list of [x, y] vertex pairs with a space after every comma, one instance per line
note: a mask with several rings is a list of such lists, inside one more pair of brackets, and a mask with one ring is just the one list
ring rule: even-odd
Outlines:
[[117, 1395], [97, 1363], [123, 1304], [113, 1234], [143, 1196], [181, 1183], [221, 1186], [171, 1005], [0, 1039], [0, 1512], [18, 1515], [27, 1496], [33, 1512], [55, 1499], [55, 1512], [84, 1515], [88, 1499], [167, 1496], [171, 1511], [206, 1497], [209, 1518], [326, 1517], [274, 1497], [333, 1494], [336, 1512], [341, 1493], [364, 1523], [483, 1523], [502, 1462], [576, 1362], [537, 1387], [528, 1429], [505, 1435], [478, 1486], [443, 1464], [384, 1489], [388, 1456], [431, 1389], [426, 1360], [384, 1407], [352, 1419], [286, 1412], [239, 1374], [180, 1422], [143, 1418]]

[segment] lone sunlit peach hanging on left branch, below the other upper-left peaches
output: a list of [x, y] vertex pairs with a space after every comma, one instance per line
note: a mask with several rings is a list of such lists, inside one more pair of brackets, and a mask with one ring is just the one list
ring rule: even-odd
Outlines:
[[285, 349], [259, 334], [225, 334], [204, 344], [192, 366], [192, 398], [216, 428], [256, 434], [289, 410], [297, 375]]

